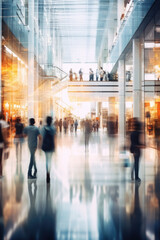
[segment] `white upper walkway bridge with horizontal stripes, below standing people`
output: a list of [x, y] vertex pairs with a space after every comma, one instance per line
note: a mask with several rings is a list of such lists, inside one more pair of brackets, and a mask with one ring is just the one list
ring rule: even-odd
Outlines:
[[[126, 82], [126, 97], [133, 94], [133, 82]], [[142, 91], [146, 96], [160, 95], [160, 81], [145, 81], [142, 83]], [[119, 96], [118, 81], [69, 81], [68, 94], [72, 101], [106, 100], [107, 97]]]

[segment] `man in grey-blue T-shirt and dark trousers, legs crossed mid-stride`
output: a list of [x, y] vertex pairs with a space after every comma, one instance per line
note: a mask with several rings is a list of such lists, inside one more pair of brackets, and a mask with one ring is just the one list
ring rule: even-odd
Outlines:
[[[34, 126], [34, 118], [29, 119], [29, 126], [24, 128], [24, 136], [28, 136], [28, 148], [30, 151], [30, 163], [28, 167], [28, 179], [35, 179], [37, 177], [37, 166], [35, 161], [35, 152], [37, 149], [37, 140], [41, 141], [41, 135], [39, 128]], [[34, 168], [34, 174], [32, 175], [32, 168]]]

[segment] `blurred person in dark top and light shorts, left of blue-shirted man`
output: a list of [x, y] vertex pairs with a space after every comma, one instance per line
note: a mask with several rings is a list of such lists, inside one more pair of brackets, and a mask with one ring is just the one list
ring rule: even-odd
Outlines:
[[24, 136], [23, 136], [24, 125], [21, 123], [21, 118], [16, 118], [15, 124], [15, 137], [14, 143], [16, 145], [16, 158], [21, 161], [22, 159], [22, 144], [24, 143]]

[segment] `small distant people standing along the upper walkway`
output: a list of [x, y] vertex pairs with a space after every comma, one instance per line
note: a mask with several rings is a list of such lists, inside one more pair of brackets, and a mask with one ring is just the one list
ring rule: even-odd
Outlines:
[[[79, 75], [79, 78], [78, 78]], [[69, 71], [69, 80], [70, 81], [83, 81], [86, 80], [83, 77], [83, 71], [80, 68], [78, 74], [76, 72], [73, 72], [72, 68]], [[110, 80], [110, 74], [107, 73], [102, 67], [99, 69], [96, 69], [96, 72], [94, 73], [92, 68], [89, 68], [89, 81], [109, 81]]]

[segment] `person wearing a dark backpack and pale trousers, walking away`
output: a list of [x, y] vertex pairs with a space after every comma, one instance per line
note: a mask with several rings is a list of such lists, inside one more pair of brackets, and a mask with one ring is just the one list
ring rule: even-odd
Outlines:
[[47, 125], [42, 129], [42, 150], [45, 152], [46, 157], [46, 182], [50, 183], [50, 171], [51, 171], [51, 160], [53, 152], [55, 151], [55, 136], [56, 128], [52, 125], [52, 117], [46, 118]]

